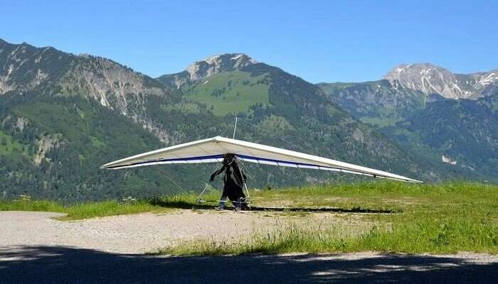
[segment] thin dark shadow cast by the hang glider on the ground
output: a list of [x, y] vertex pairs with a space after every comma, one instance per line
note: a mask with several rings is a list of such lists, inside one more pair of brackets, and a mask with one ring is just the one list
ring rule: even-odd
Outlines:
[[[154, 206], [166, 207], [166, 208], [177, 208], [177, 209], [196, 209], [196, 210], [213, 210], [213, 204], [198, 204], [195, 202], [185, 202], [185, 201], [164, 201], [164, 200], [150, 200], [150, 204]], [[233, 207], [227, 207], [227, 209], [233, 209]], [[369, 209], [369, 208], [340, 208], [340, 207], [257, 207], [252, 206], [248, 211], [259, 211], [259, 212], [337, 212], [337, 213], [369, 213], [369, 214], [391, 214], [391, 213], [401, 213], [401, 210], [393, 209]]]

